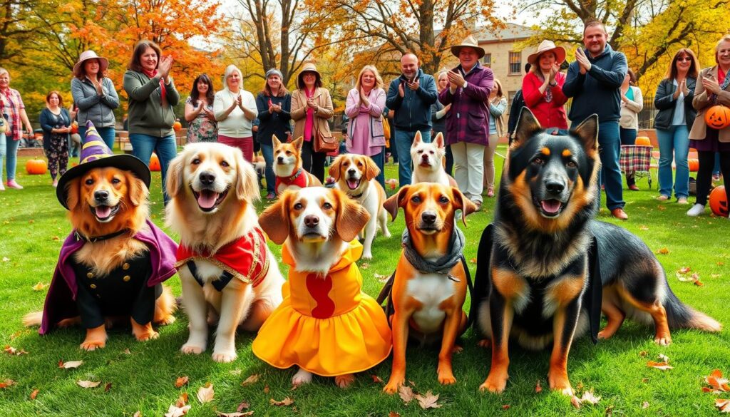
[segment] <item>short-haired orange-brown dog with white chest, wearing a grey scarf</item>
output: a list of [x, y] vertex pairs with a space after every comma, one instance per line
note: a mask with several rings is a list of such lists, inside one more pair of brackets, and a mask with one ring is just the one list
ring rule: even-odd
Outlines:
[[[384, 206], [393, 219], [398, 214], [398, 207], [403, 207], [412, 253], [436, 264], [450, 256], [450, 242], [456, 233], [456, 210], [462, 210], [464, 217], [476, 210], [475, 204], [457, 188], [438, 183], [406, 185]], [[441, 338], [439, 383], [455, 383], [451, 356], [456, 337], [464, 332], [467, 322], [462, 310], [467, 290], [464, 264], [456, 261], [447, 273], [425, 272], [411, 263], [406, 250], [404, 245], [391, 289], [393, 369], [383, 389], [389, 394], [397, 392], [405, 381], [409, 334], [419, 340]]]

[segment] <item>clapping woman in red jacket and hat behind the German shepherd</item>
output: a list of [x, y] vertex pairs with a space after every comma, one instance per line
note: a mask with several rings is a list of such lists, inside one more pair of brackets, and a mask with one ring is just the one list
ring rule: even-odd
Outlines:
[[568, 118], [564, 104], [568, 101], [563, 94], [565, 74], [560, 72], [560, 64], [565, 61], [565, 49], [556, 47], [552, 41], [542, 41], [537, 52], [527, 57], [532, 65], [530, 72], [522, 80], [522, 94], [525, 104], [542, 129], [553, 134], [566, 134]]

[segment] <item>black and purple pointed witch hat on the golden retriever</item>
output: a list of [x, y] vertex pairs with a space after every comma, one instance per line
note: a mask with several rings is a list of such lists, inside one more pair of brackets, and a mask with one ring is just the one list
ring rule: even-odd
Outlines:
[[99, 132], [96, 131], [91, 120], [86, 122], [86, 136], [81, 138], [81, 156], [79, 159], [79, 164], [76, 167], [71, 167], [64, 175], [61, 175], [61, 178], [58, 179], [58, 188], [55, 189], [58, 202], [61, 202], [66, 210], [69, 210], [69, 206], [66, 204], [69, 195], [66, 187], [69, 185], [69, 181], [94, 168], [115, 167], [129, 171], [142, 180], [147, 188], [150, 188], [150, 178], [152, 176], [150, 168], [137, 156], [115, 155], [112, 153], [112, 150], [104, 143], [104, 139], [99, 136]]

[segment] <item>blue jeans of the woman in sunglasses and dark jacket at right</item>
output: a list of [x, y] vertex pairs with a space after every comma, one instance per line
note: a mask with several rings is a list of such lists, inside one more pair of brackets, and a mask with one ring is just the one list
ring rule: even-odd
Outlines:
[[656, 129], [659, 142], [659, 194], [672, 196], [672, 153], [674, 153], [677, 173], [675, 175], [675, 196], [689, 196], [689, 131], [687, 126], [672, 126], [669, 129]]

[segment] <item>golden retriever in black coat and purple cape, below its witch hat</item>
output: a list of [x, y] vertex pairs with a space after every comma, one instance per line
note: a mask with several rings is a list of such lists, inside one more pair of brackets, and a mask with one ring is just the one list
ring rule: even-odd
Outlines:
[[120, 319], [131, 322], [137, 340], [158, 337], [153, 322], [174, 322], [172, 292], [155, 282], [174, 275], [177, 245], [147, 220], [148, 194], [143, 180], [117, 167], [88, 169], [59, 187], [74, 232], [61, 249], [44, 311], [26, 315], [26, 325], [40, 324], [45, 334], [82, 324], [80, 348], [93, 351], [104, 348], [107, 328]]

